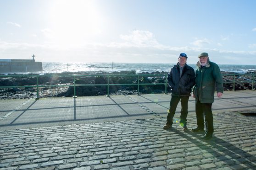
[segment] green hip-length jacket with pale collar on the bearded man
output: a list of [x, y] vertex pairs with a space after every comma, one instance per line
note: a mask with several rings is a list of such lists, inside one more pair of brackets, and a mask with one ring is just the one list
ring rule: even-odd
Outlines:
[[201, 67], [198, 61], [195, 70], [195, 86], [193, 87], [195, 101], [213, 103], [214, 92], [223, 93], [223, 90], [223, 79], [219, 66], [208, 59], [206, 66]]

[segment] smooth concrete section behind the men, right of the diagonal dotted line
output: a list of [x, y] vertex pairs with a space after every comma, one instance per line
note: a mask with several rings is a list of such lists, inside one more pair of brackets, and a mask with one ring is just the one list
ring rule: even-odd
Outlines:
[[[215, 94], [217, 96], [217, 94]], [[152, 95], [131, 95], [135, 101], [145, 107], [150, 108], [152, 112], [156, 112], [160, 115], [166, 115], [169, 108], [169, 102], [171, 99], [170, 94], [152, 94]], [[189, 97], [188, 103], [189, 113], [195, 113], [195, 98]], [[215, 97], [212, 105], [213, 113], [218, 112], [235, 112], [244, 110], [256, 109], [256, 91], [244, 90], [244, 91], [225, 91], [221, 98]], [[180, 103], [178, 104], [176, 114], [181, 110]]]

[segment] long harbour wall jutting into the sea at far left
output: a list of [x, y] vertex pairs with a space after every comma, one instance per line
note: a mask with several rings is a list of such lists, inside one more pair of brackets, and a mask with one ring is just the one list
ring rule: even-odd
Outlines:
[[42, 71], [42, 62], [33, 59], [0, 59], [0, 73]]

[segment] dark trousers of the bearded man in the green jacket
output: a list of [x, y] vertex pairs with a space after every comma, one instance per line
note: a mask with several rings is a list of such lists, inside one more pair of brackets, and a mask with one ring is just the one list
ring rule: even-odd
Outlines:
[[[212, 103], [201, 103], [200, 101], [195, 102], [195, 114], [197, 126], [201, 129], [204, 128], [204, 117], [205, 126], [207, 133], [213, 133], [213, 117], [211, 112]], [[205, 114], [204, 114], [205, 113]]]

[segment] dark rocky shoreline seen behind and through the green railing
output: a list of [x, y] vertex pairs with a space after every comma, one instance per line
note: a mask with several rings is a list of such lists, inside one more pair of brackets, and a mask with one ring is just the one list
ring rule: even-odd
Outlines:
[[[248, 72], [248, 74], [235, 74], [230, 72], [222, 72], [224, 83], [224, 90], [252, 90], [255, 89], [256, 84], [252, 87], [252, 74], [256, 72]], [[121, 84], [137, 84], [139, 76], [139, 84], [153, 84], [164, 83], [165, 76], [157, 76], [157, 74], [167, 75], [167, 72], [143, 72], [136, 74], [135, 71], [121, 71], [121, 72], [63, 72], [56, 74], [44, 74], [39, 77], [39, 85], [45, 87], [39, 87], [39, 98], [43, 97], [70, 97], [74, 96], [73, 85], [74, 77], [66, 75], [81, 75], [76, 76], [76, 96], [102, 96], [107, 94], [107, 86], [100, 84], [115, 84], [109, 86], [110, 95], [129, 95], [138, 93], [138, 85], [121, 85]], [[107, 76], [109, 74], [109, 80]], [[118, 76], [119, 74], [127, 74], [126, 76]], [[136, 76], [134, 76], [136, 74]], [[146, 74], [146, 76], [145, 76]], [[17, 75], [17, 74], [8, 74]], [[35, 76], [29, 74], [18, 74], [19, 77], [1, 77], [0, 86], [31, 86], [37, 84]], [[23, 76], [24, 75], [24, 76]], [[35, 75], [35, 74], [33, 74]], [[87, 76], [90, 75], [90, 76]], [[131, 75], [131, 76], [130, 76]], [[243, 81], [241, 83], [233, 83], [235, 81]], [[255, 81], [255, 77], [254, 77]], [[58, 87], [48, 87], [47, 85], [63, 85]], [[95, 85], [95, 86], [79, 86], [79, 85]], [[140, 94], [153, 94], [164, 93], [165, 85], [139, 85]], [[170, 89], [167, 87], [167, 93], [170, 93]], [[37, 89], [34, 87], [26, 88], [0, 88], [0, 99], [27, 99], [37, 98]]]

